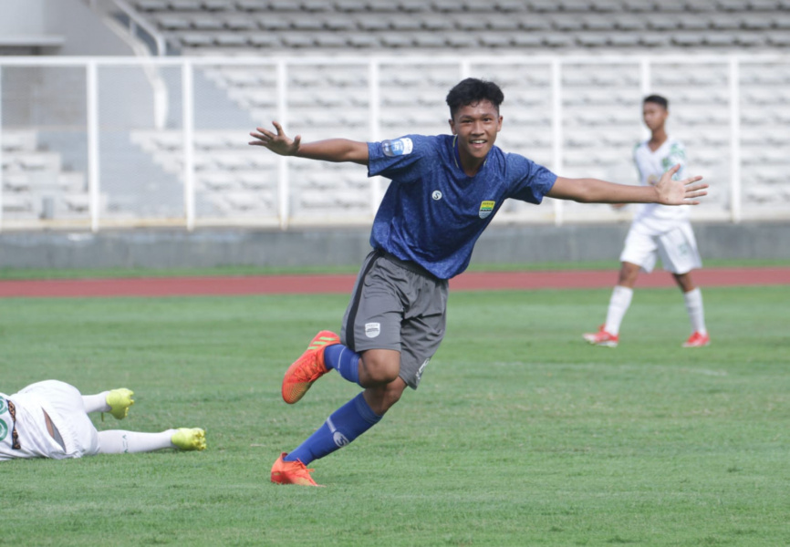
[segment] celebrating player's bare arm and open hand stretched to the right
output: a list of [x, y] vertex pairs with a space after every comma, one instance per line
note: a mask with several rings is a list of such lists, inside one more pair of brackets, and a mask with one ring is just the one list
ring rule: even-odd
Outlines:
[[695, 184], [702, 177], [673, 181], [680, 165], [667, 170], [655, 186], [631, 186], [598, 179], [557, 177], [546, 195], [559, 200], [582, 203], [661, 203], [662, 205], [699, 205], [695, 198], [707, 195], [707, 184]]

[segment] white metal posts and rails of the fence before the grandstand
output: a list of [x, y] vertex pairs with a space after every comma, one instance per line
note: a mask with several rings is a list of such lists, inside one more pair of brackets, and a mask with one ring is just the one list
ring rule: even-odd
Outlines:
[[[461, 76], [470, 75], [473, 65], [496, 66], [496, 65], [520, 65], [520, 66], [546, 66], [550, 67], [551, 73], [551, 164], [550, 168], [557, 172], [563, 171], [566, 142], [564, 135], [563, 116], [565, 106], [563, 103], [563, 70], [568, 65], [638, 65], [639, 66], [639, 88], [644, 95], [650, 90], [650, 79], [653, 67], [661, 64], [711, 64], [727, 67], [729, 93], [729, 108], [727, 116], [729, 118], [729, 143], [726, 153], [729, 154], [729, 206], [718, 212], [711, 212], [702, 217], [708, 220], [741, 222], [742, 220], [769, 220], [777, 218], [776, 212], [764, 213], [759, 210], [745, 214], [742, 207], [743, 192], [741, 185], [742, 173], [742, 142], [741, 142], [741, 82], [739, 81], [740, 68], [743, 64], [749, 63], [781, 63], [790, 66], [790, 56], [783, 55], [729, 55], [729, 56], [618, 56], [618, 57], [589, 57], [589, 56], [546, 56], [546, 57], [0, 57], [0, 78], [3, 76], [5, 67], [81, 67], [86, 71], [86, 104], [87, 104], [87, 125], [85, 128], [88, 144], [88, 192], [89, 192], [89, 216], [87, 227], [93, 232], [99, 231], [103, 227], [133, 227], [140, 225], [182, 225], [188, 230], [200, 226], [209, 225], [253, 225], [253, 226], [278, 226], [287, 229], [289, 226], [306, 225], [308, 223], [326, 223], [327, 225], [339, 225], [348, 223], [370, 222], [372, 213], [381, 198], [381, 191], [378, 181], [373, 181], [370, 191], [369, 214], [362, 217], [348, 218], [348, 215], [341, 215], [336, 218], [321, 217], [317, 220], [294, 216], [291, 210], [291, 164], [287, 158], [278, 158], [278, 168], [276, 177], [277, 198], [276, 198], [276, 218], [272, 219], [250, 219], [237, 220], [231, 217], [203, 218], [196, 211], [195, 201], [195, 106], [194, 106], [194, 69], [200, 67], [270, 67], [274, 69], [276, 82], [276, 113], [279, 120], [286, 126], [289, 120], [288, 93], [287, 85], [288, 70], [291, 67], [304, 67], [321, 65], [349, 66], [359, 65], [367, 68], [369, 77], [369, 139], [381, 138], [380, 108], [379, 108], [379, 72], [382, 66], [404, 66], [404, 65], [452, 65], [457, 64], [458, 74]], [[181, 72], [180, 85], [182, 88], [182, 182], [183, 182], [183, 211], [180, 218], [103, 218], [101, 211], [101, 196], [103, 184], [100, 175], [101, 151], [99, 146], [99, 101], [101, 90], [97, 72], [105, 67], [173, 67], [179, 68]], [[3, 97], [4, 80], [0, 79], [0, 98]], [[442, 97], [445, 89], [437, 89], [437, 96]], [[2, 103], [0, 103], [2, 104]], [[2, 110], [0, 110], [2, 114]], [[4, 132], [3, 119], [0, 118], [0, 139]], [[245, 128], [246, 129], [246, 128]], [[250, 128], [251, 129], [251, 128]], [[342, 135], [338, 135], [342, 136]], [[307, 135], [306, 138], [309, 138]], [[2, 160], [2, 150], [0, 150], [0, 160]], [[78, 227], [85, 225], [79, 221], [53, 222], [42, 219], [27, 219], [19, 222], [9, 222], [3, 217], [3, 174], [0, 171], [0, 229], [13, 228], [47, 228], [47, 227]], [[546, 216], [524, 215], [502, 213], [496, 222], [554, 222], [562, 224], [564, 222], [617, 222], [622, 221], [622, 215], [592, 214], [590, 217], [567, 216], [562, 201], [553, 201], [553, 213]], [[779, 212], [778, 218], [790, 219], [787, 212]]]

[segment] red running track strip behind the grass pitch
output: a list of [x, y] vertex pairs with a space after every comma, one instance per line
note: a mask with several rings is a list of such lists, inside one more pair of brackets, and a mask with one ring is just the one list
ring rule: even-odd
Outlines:
[[[559, 272], [467, 272], [452, 279], [455, 291], [606, 288], [615, 270]], [[0, 281], [0, 298], [90, 296], [188, 296], [223, 294], [349, 294], [354, 275], [250, 275], [239, 277], [147, 277]], [[710, 268], [694, 272], [702, 287], [790, 284], [790, 268]], [[669, 287], [666, 272], [639, 276], [639, 287]]]

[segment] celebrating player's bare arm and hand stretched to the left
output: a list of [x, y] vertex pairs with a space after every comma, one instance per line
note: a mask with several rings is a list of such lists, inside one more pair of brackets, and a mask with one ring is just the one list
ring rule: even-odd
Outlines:
[[291, 139], [278, 122], [273, 121], [276, 132], [256, 128], [250, 133], [252, 146], [262, 146], [280, 156], [295, 156], [308, 160], [352, 161], [368, 165], [368, 143], [349, 139], [327, 139], [316, 142], [302, 142], [301, 135]]

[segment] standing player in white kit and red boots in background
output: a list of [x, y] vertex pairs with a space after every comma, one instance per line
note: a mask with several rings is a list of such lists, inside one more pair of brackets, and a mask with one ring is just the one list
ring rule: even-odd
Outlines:
[[[636, 146], [634, 161], [639, 170], [639, 182], [644, 186], [654, 185], [673, 165], [681, 166], [675, 178], [685, 177], [686, 151], [681, 141], [670, 138], [665, 129], [669, 114], [666, 98], [650, 95], [642, 102], [642, 116], [650, 129], [650, 139]], [[657, 203], [642, 203], [637, 207], [620, 254], [622, 266], [618, 284], [609, 299], [606, 323], [597, 333], [584, 335], [585, 340], [596, 346], [618, 345], [620, 324], [631, 304], [639, 270], [650, 273], [660, 257], [664, 269], [672, 274], [683, 292], [691, 320], [691, 336], [683, 346], [708, 346], [711, 338], [705, 327], [702, 293], [691, 279], [691, 271], [702, 267], [702, 260], [687, 208]]]

